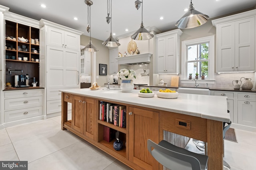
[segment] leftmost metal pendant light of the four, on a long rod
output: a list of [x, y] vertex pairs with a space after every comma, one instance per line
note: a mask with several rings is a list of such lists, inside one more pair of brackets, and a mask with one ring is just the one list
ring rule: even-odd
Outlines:
[[88, 6], [87, 7], [87, 27], [86, 27], [86, 31], [89, 33], [90, 32], [90, 41], [89, 44], [86, 45], [86, 47], [84, 47], [85, 51], [89, 51], [89, 52], [96, 52], [99, 51], [98, 49], [96, 49], [96, 47], [94, 47], [94, 45], [92, 45], [92, 40], [91, 40], [91, 5], [93, 4], [91, 0], [85, 0], [84, 3]]

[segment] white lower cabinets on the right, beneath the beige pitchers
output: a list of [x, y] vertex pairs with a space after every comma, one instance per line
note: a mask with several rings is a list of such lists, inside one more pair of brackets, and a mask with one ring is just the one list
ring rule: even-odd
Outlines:
[[227, 105], [233, 125], [256, 130], [256, 93], [211, 90], [211, 95], [228, 97]]

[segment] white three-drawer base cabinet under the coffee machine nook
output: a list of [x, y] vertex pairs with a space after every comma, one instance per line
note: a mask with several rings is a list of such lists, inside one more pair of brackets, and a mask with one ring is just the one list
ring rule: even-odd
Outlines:
[[4, 123], [43, 117], [43, 89], [4, 91]]

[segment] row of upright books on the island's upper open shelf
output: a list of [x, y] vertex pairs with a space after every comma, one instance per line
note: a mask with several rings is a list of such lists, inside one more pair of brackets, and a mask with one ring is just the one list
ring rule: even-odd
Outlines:
[[125, 128], [126, 106], [100, 101], [99, 119]]

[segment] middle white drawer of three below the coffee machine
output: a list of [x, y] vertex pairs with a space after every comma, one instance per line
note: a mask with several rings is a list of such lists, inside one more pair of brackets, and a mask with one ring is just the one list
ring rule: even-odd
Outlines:
[[35, 107], [35, 106], [42, 106], [42, 96], [4, 100], [5, 110], [22, 109], [22, 108]]

